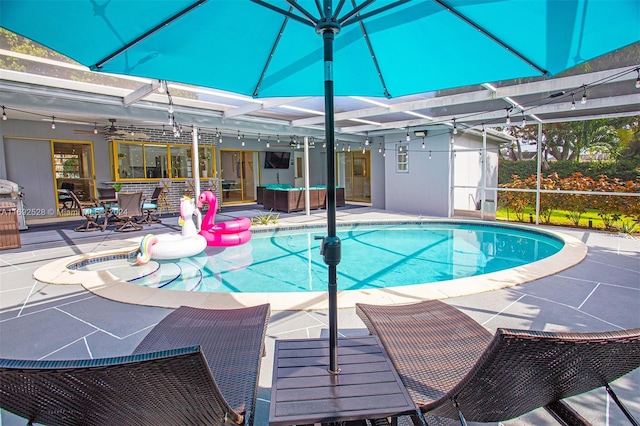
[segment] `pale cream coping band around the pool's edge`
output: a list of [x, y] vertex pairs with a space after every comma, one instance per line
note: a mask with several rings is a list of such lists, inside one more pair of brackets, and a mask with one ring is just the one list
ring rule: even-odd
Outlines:
[[[390, 287], [385, 289], [340, 290], [338, 308], [352, 308], [355, 303], [392, 305], [417, 302], [424, 299], [447, 299], [469, 294], [482, 293], [507, 287], [514, 287], [546, 276], [554, 275], [580, 263], [587, 255], [587, 245], [577, 238], [548, 229], [538, 229], [527, 225], [496, 223], [465, 219], [392, 219], [344, 221], [339, 227], [349, 225], [385, 225], [418, 223], [461, 223], [524, 229], [554, 236], [564, 242], [556, 254], [527, 265], [504, 271], [492, 272], [472, 277], [457, 278], [427, 284]], [[322, 228], [320, 223], [286, 224], [264, 227], [264, 231]], [[124, 254], [137, 249], [137, 245], [126, 248], [90, 252], [50, 262], [33, 273], [33, 278], [46, 284], [81, 285], [87, 291], [109, 300], [165, 308], [193, 306], [200, 308], [230, 309], [269, 303], [274, 311], [282, 310], [322, 310], [328, 309], [325, 291], [305, 293], [196, 293], [142, 287], [117, 278], [109, 271], [79, 271], [68, 266], [86, 259], [110, 254]]]

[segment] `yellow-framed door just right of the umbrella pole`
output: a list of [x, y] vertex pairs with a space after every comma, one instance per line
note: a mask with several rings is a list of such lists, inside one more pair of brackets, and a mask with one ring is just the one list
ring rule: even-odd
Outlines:
[[338, 153], [338, 181], [344, 186], [346, 201], [371, 202], [371, 152]]

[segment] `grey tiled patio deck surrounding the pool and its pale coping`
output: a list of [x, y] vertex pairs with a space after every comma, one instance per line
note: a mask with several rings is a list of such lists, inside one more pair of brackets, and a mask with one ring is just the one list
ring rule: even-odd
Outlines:
[[[218, 220], [255, 215], [223, 212]], [[226, 217], [225, 217], [226, 216]], [[416, 219], [371, 208], [341, 208], [339, 221]], [[281, 215], [281, 223], [324, 220], [324, 212]], [[80, 285], [51, 285], [32, 278], [45, 264], [74, 255], [119, 250], [134, 244], [139, 233], [113, 231], [76, 233], [72, 224], [32, 226], [21, 232], [23, 247], [0, 252], [0, 357], [18, 359], [82, 359], [126, 355], [171, 309], [139, 306], [96, 296]], [[606, 331], [640, 327], [640, 240], [598, 231], [552, 229], [582, 241], [586, 258], [575, 266], [526, 284], [444, 299], [490, 331], [498, 327], [553, 330]], [[147, 232], [177, 231], [177, 219], [145, 227]], [[144, 232], [144, 231], [143, 231]], [[286, 297], [286, 296], [284, 296]], [[367, 330], [353, 308], [340, 309], [342, 335], [363, 335]], [[325, 309], [306, 311], [272, 308], [267, 332], [256, 411], [256, 425], [268, 421], [273, 346], [276, 339], [320, 337], [327, 334]], [[640, 417], [640, 371], [613, 383], [630, 411]], [[627, 424], [604, 389], [570, 399], [593, 424]], [[23, 425], [24, 419], [2, 411], [2, 425]], [[505, 425], [555, 424], [544, 410], [536, 410]]]

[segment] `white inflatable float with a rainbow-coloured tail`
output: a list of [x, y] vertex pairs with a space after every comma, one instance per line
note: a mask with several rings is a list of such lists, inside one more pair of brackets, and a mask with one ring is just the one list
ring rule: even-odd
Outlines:
[[182, 197], [179, 220], [182, 233], [145, 235], [140, 243], [140, 252], [136, 256], [138, 264], [144, 265], [151, 259], [181, 259], [202, 253], [207, 248], [207, 240], [198, 234], [193, 222], [194, 214], [200, 217], [200, 210], [196, 208], [194, 200], [187, 196]]

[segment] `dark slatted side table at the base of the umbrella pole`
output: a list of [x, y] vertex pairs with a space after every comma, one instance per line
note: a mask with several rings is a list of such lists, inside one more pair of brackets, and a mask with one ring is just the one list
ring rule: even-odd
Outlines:
[[417, 408], [376, 336], [338, 339], [339, 374], [327, 371], [328, 339], [277, 340], [269, 425], [397, 417]]

